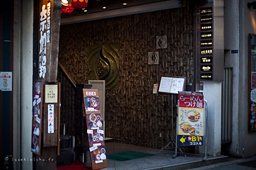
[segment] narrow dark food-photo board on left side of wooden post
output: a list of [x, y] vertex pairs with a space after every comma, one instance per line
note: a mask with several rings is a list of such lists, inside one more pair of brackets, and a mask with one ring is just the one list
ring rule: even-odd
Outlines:
[[32, 108], [31, 151], [37, 155], [41, 152], [41, 119], [43, 113], [43, 81], [34, 81]]

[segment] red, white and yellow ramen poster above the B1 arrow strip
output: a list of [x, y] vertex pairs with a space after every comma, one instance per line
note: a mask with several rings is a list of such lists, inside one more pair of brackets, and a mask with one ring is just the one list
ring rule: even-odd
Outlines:
[[204, 136], [202, 92], [179, 91], [178, 135]]

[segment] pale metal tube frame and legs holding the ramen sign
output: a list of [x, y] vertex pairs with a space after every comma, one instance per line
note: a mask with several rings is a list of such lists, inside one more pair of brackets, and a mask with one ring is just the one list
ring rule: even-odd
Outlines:
[[[178, 100], [178, 104], [177, 104], [177, 111], [178, 111], [177, 113], [179, 113], [179, 100]], [[208, 127], [207, 112], [208, 112], [207, 111], [207, 100], [204, 100], [204, 135], [203, 135], [203, 137], [205, 138], [206, 142], [205, 142], [205, 154], [204, 154], [203, 161], [205, 161], [207, 159], [207, 157], [208, 157], [208, 155], [207, 155], [207, 135], [206, 135], [208, 133], [208, 128], [207, 128], [207, 131], [206, 131], [206, 127]], [[179, 117], [179, 114], [178, 114], [178, 117]], [[177, 154], [177, 149], [178, 149], [178, 128], [179, 128], [178, 127], [178, 117], [176, 118], [177, 119], [177, 123], [176, 123], [176, 143], [175, 143], [176, 147], [175, 147], [175, 154], [172, 156], [172, 158], [176, 158], [177, 155], [178, 155]]]

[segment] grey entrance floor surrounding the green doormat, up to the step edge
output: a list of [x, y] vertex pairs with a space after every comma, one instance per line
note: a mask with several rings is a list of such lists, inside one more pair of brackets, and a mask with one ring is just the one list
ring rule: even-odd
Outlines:
[[[186, 157], [180, 153], [173, 159], [174, 151], [140, 147], [131, 144], [121, 144], [117, 142], [106, 142], [106, 155], [121, 153], [126, 151], [136, 151], [154, 154], [148, 157], [132, 159], [127, 161], [115, 161], [107, 159], [108, 168], [103, 170], [185, 170], [197, 167], [205, 167], [221, 162], [229, 161], [228, 156], [209, 156], [203, 161], [204, 155], [187, 154]], [[216, 166], [217, 167], [217, 166]], [[216, 167], [210, 167], [216, 169]], [[240, 168], [241, 169], [241, 168]]]

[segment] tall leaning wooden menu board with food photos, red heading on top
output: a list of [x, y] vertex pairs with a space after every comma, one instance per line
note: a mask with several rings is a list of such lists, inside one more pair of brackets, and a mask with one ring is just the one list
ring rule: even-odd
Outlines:
[[82, 89], [92, 169], [107, 168], [98, 89]]

